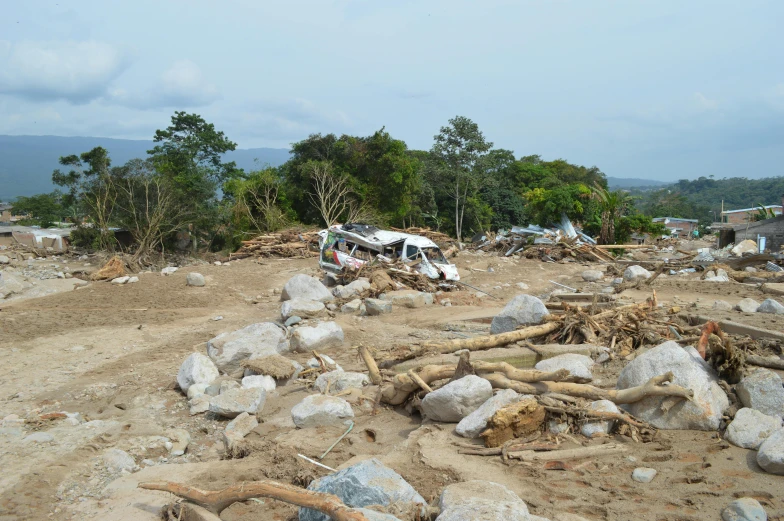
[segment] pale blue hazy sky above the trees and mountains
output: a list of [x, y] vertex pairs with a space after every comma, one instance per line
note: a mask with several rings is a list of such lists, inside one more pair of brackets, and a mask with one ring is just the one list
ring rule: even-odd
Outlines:
[[0, 134], [240, 148], [457, 115], [498, 148], [671, 181], [784, 175], [780, 0], [55, 0], [0, 5]]

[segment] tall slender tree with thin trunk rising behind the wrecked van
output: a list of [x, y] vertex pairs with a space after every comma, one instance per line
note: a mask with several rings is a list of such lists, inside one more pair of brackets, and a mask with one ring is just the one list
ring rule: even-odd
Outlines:
[[430, 153], [440, 166], [440, 176], [450, 187], [455, 204], [455, 235], [460, 241], [466, 203], [481, 184], [479, 162], [493, 144], [485, 141], [476, 123], [463, 116], [450, 119], [449, 125], [441, 127], [433, 139]]

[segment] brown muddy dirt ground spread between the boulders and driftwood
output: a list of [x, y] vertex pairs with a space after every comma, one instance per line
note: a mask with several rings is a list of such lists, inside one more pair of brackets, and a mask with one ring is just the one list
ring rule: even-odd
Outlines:
[[[335, 320], [346, 342], [325, 353], [346, 370], [364, 371], [352, 349], [359, 343], [383, 351], [453, 338], [458, 335], [450, 331], [454, 324], [486, 327], [477, 319], [492, 317], [518, 293], [548, 295], [558, 288], [551, 281], [577, 289], [603, 287], [580, 277], [599, 264], [468, 253], [456, 262], [464, 282], [492, 296], [468, 290], [450, 296], [451, 307], [396, 309], [382, 317], [338, 313]], [[186, 286], [189, 271], [204, 274], [206, 287]], [[74, 290], [62, 281], [53, 294], [0, 301], [0, 520], [155, 520], [172, 497], [138, 490], [139, 482], [172, 480], [217, 489], [265, 478], [307, 485], [327, 474], [297, 453], [319, 456], [342, 432], [294, 427], [291, 407], [309, 394], [303, 386], [279, 387], [268, 396], [263, 423], [247, 438], [254, 450], [239, 460], [222, 459], [226, 420], [190, 416], [187, 399], [176, 389], [180, 364], [194, 351], [205, 352], [207, 340], [279, 319], [275, 290], [298, 273], [320, 277], [311, 259], [244, 259], [223, 266], [193, 265], [168, 277], [143, 273], [139, 283], [123, 286], [95, 282]], [[654, 285], [659, 301], [784, 330], [784, 318], [775, 315], [710, 309], [716, 299], [732, 304], [744, 297], [763, 300], [754, 286], [697, 278], [660, 277]], [[529, 289], [521, 290], [520, 282]], [[647, 296], [638, 290], [622, 295], [630, 301]], [[291, 358], [303, 363], [310, 355]], [[599, 385], [613, 387], [621, 367], [613, 362], [598, 368]], [[78, 413], [84, 421], [45, 416], [60, 412]], [[541, 464], [507, 466], [498, 457], [459, 455], [453, 442], [466, 440], [453, 433], [454, 425], [423, 424], [403, 408], [382, 407], [377, 415], [357, 408], [355, 413], [354, 430], [323, 463], [343, 467], [378, 457], [428, 500], [437, 499], [449, 483], [487, 479], [511, 488], [532, 513], [544, 517], [571, 512], [608, 521], [719, 519], [734, 498], [752, 496], [765, 506], [769, 519], [784, 519], [784, 477], [766, 474], [754, 451], [732, 446], [715, 432], [660, 431], [650, 443], [620, 436], [583, 438], [578, 441], [621, 442], [628, 450], [578, 461], [565, 470], [544, 470]], [[164, 443], [175, 428], [188, 430], [191, 442], [184, 456], [170, 458]], [[35, 432], [50, 434], [51, 441], [26, 440]], [[141, 470], [108, 470], [102, 455], [110, 448], [127, 451]], [[648, 484], [632, 481], [631, 472], [639, 466], [653, 467], [658, 475]], [[222, 518], [289, 520], [295, 514], [291, 506], [260, 500], [235, 504]]]

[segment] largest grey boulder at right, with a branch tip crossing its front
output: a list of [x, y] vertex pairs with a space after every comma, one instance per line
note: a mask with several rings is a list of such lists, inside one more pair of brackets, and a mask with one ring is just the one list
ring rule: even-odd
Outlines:
[[674, 384], [694, 391], [692, 400], [648, 396], [623, 407], [658, 429], [718, 429], [729, 400], [719, 386], [716, 373], [694, 348], [684, 349], [676, 342], [664, 342], [624, 367], [616, 387], [628, 389], [643, 385], [669, 371], [675, 376]]

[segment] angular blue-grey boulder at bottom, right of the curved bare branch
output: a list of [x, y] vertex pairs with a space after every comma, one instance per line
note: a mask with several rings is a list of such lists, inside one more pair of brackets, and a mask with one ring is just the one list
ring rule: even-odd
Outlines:
[[[427, 505], [425, 498], [404, 480], [400, 474], [386, 467], [375, 458], [368, 459], [314, 480], [308, 490], [334, 494], [343, 503], [359, 508], [370, 505], [420, 504], [422, 514]], [[326, 516], [309, 508], [299, 509], [299, 521], [329, 521]]]

